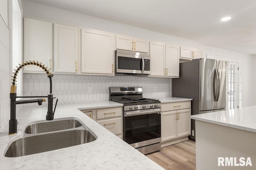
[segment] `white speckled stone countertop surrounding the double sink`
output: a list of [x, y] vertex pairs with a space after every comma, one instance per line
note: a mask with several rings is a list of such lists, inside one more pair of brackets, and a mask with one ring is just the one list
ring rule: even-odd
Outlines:
[[[58, 104], [54, 118], [76, 117], [90, 128], [97, 135], [98, 139], [82, 145], [27, 156], [4, 157], [4, 150], [9, 141], [17, 136], [8, 135], [7, 125], [3, 132], [0, 133], [0, 169], [163, 169], [77, 109], [118, 106], [123, 105], [110, 101]], [[19, 122], [18, 135], [23, 133], [29, 122], [45, 120], [46, 113], [47, 105], [23, 106], [16, 114]]]

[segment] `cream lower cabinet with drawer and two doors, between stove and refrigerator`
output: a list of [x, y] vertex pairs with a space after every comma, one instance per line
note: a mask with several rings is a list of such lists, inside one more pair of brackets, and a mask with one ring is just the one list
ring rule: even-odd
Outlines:
[[190, 101], [162, 104], [161, 142], [190, 135], [190, 107]]

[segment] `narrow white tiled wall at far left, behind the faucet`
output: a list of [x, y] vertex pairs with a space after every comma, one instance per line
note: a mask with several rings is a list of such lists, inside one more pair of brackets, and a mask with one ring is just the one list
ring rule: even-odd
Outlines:
[[0, 1], [0, 131], [10, 118], [10, 31], [6, 4], [8, 0]]

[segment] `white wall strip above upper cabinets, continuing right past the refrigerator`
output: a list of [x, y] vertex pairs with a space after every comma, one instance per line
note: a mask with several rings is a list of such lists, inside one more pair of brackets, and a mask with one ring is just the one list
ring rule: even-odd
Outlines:
[[[27, 0], [22, 0], [23, 3], [23, 14], [27, 17], [40, 18], [42, 20], [55, 21], [58, 23], [64, 23], [67, 25], [78, 25], [82, 27], [98, 29], [102, 31], [109, 31], [113, 33], [119, 33], [123, 35], [134, 36], [142, 39], [149, 39], [153, 41], [161, 41], [165, 43], [170, 43], [174, 45], [187, 46], [192, 48], [201, 49], [204, 51], [204, 56], [217, 55], [228, 57], [230, 59], [237, 59], [244, 62], [244, 102], [243, 106], [251, 106], [256, 104], [253, 100], [252, 95], [252, 79], [253, 77], [253, 57], [244, 53], [238, 53], [235, 51], [210, 47], [206, 45], [200, 45], [196, 41], [191, 39], [185, 39], [181, 37], [176, 37], [172, 35], [166, 35], [154, 31], [149, 31], [146, 29], [125, 25], [122, 23], [117, 23], [114, 21], [103, 20], [100, 18], [95, 18], [92, 16], [87, 16], [84, 14], [79, 14], [76, 12], [70, 12], [67, 10], [62, 10], [58, 8], [52, 8], [49, 6], [44, 6]], [[248, 88], [249, 87], [249, 88]], [[170, 80], [171, 88], [171, 80]], [[171, 94], [171, 92], [170, 92]]]

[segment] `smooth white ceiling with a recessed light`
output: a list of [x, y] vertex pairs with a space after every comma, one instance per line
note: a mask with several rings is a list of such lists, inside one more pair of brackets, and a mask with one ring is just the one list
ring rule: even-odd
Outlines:
[[30, 1], [256, 55], [256, 0]]

